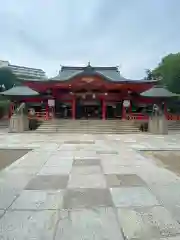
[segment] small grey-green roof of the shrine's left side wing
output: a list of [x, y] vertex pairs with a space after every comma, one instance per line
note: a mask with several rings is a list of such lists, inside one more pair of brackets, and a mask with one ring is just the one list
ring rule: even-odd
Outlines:
[[16, 86], [8, 89], [7, 91], [1, 92], [4, 96], [37, 96], [38, 92], [26, 86]]

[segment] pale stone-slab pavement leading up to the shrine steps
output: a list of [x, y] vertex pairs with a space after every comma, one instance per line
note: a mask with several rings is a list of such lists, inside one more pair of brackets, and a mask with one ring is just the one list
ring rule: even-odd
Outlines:
[[0, 172], [0, 239], [179, 240], [180, 178], [140, 150], [180, 135], [1, 134], [31, 148]]

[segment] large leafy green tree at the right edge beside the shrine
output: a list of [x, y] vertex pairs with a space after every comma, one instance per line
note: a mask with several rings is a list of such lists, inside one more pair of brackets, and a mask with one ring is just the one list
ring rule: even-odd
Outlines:
[[170, 91], [180, 93], [180, 53], [165, 56], [152, 74]]

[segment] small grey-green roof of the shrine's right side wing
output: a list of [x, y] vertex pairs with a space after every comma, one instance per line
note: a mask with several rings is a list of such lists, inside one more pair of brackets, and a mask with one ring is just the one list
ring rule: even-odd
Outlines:
[[151, 89], [141, 93], [143, 97], [159, 97], [159, 98], [170, 98], [170, 97], [177, 97], [178, 95], [175, 93], [170, 92], [166, 87], [162, 86], [154, 86]]

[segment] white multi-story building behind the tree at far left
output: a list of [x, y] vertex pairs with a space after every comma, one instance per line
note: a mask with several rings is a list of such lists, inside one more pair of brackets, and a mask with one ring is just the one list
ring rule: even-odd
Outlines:
[[19, 79], [24, 80], [47, 79], [46, 73], [42, 69], [11, 65], [8, 61], [3, 60], [0, 60], [0, 68], [1, 67], [10, 68]]

